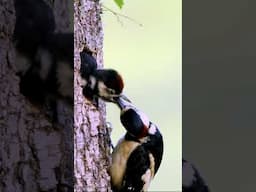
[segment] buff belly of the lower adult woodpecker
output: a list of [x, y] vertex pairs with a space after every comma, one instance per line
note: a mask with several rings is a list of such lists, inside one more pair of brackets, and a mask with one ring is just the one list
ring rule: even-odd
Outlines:
[[126, 170], [127, 160], [134, 149], [140, 144], [135, 141], [120, 139], [112, 153], [112, 164], [110, 166], [110, 176], [112, 185], [121, 188], [123, 176]]

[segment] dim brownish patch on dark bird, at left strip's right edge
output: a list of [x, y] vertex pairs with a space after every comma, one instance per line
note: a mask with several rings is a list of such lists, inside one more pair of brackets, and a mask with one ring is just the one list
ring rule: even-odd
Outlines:
[[73, 70], [66, 62], [58, 62], [57, 65], [58, 91], [64, 97], [73, 97]]

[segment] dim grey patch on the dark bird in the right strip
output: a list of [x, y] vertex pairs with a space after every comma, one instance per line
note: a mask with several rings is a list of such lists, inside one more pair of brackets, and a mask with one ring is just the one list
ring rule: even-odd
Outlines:
[[188, 187], [193, 184], [195, 180], [195, 171], [190, 163], [184, 163], [182, 166], [182, 185]]

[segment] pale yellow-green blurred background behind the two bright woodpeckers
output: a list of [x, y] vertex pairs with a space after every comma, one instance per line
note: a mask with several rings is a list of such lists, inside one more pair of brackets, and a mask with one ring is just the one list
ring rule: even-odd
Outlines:
[[[124, 93], [164, 136], [163, 161], [150, 191], [181, 191], [182, 1], [124, 3], [120, 10], [114, 0], [102, 0], [104, 65], [120, 72], [125, 81]], [[107, 9], [135, 21], [115, 16]], [[107, 104], [114, 144], [125, 133], [119, 113], [117, 106]]]

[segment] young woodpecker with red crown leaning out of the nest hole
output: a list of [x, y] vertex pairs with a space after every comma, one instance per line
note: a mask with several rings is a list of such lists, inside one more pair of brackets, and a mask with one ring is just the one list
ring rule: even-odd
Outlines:
[[83, 95], [90, 101], [100, 97], [105, 101], [113, 102], [124, 87], [121, 75], [113, 69], [97, 69], [97, 62], [88, 50], [83, 50], [80, 58], [80, 74], [85, 80]]

